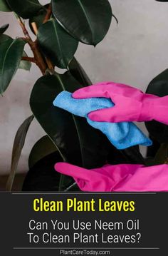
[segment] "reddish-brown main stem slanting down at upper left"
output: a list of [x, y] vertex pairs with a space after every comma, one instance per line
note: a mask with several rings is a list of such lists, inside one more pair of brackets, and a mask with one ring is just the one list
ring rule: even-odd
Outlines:
[[44, 75], [46, 72], [47, 66], [46, 66], [45, 61], [43, 60], [41, 51], [38, 48], [37, 41], [33, 42], [33, 40], [31, 39], [31, 36], [28, 34], [25, 24], [23, 23], [23, 21], [21, 20], [21, 18], [19, 16], [17, 16], [17, 20], [19, 21], [21, 29], [23, 30], [23, 34], [26, 36], [26, 39], [24, 39], [24, 40], [27, 41], [27, 43], [31, 47], [31, 51], [33, 51], [35, 63], [38, 66], [38, 68], [40, 68], [41, 73], [43, 73], [43, 75]]

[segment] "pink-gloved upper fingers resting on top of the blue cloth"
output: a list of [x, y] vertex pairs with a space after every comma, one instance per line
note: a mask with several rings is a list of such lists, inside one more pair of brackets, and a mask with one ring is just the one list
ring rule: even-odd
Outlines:
[[80, 88], [73, 93], [73, 98], [95, 98], [104, 97], [110, 98], [112, 93], [109, 93], [110, 86], [115, 83], [98, 83], [93, 86], [87, 86]]

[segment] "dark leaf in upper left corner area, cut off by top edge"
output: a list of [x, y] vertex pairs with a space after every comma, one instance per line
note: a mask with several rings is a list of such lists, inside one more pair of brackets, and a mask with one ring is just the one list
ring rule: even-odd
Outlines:
[[23, 19], [35, 16], [43, 6], [38, 0], [6, 0], [12, 11]]

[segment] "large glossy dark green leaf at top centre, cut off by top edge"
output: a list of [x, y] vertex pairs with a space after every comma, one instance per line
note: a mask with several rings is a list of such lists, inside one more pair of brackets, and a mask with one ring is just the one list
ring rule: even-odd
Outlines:
[[112, 9], [107, 0], [52, 0], [53, 15], [78, 41], [92, 45], [103, 40]]

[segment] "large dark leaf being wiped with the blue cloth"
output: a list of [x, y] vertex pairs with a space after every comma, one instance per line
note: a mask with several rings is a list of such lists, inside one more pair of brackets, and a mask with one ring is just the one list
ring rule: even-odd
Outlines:
[[46, 133], [56, 144], [63, 160], [95, 168], [107, 160], [107, 138], [85, 120], [53, 106], [61, 91], [80, 88], [78, 81], [66, 72], [63, 75], [43, 76], [31, 93], [31, 110]]

